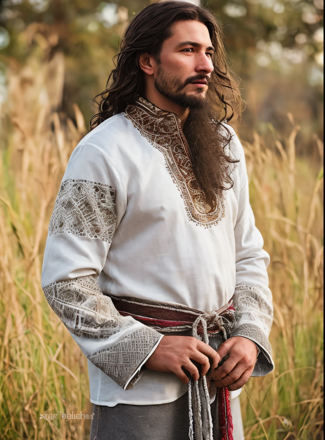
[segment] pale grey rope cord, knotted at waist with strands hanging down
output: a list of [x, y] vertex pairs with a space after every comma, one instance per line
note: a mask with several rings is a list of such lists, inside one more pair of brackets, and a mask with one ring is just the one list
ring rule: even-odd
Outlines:
[[[202, 337], [198, 335], [199, 324], [202, 324], [203, 327]], [[216, 324], [220, 325], [220, 330], [224, 334], [224, 339], [227, 339], [227, 332], [223, 325], [223, 319], [215, 310], [199, 315], [195, 319], [195, 322], [192, 326], [192, 336], [209, 345], [208, 325], [209, 327], [213, 327]], [[188, 436], [190, 440], [194, 440], [194, 434], [195, 440], [213, 440], [210, 396], [208, 385], [206, 383], [206, 376], [200, 377], [198, 381], [194, 381], [193, 377], [191, 376], [188, 383], [188, 407], [190, 417], [190, 429]], [[204, 410], [206, 414], [202, 414], [202, 410]]]

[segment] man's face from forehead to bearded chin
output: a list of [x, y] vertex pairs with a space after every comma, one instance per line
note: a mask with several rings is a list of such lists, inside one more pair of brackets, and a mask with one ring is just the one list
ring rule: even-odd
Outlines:
[[155, 68], [155, 88], [183, 107], [204, 105], [211, 72], [212, 46], [208, 28], [197, 21], [175, 22]]

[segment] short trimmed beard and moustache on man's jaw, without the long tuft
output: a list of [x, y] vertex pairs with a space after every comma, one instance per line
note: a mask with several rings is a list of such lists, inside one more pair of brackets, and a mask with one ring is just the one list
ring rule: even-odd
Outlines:
[[159, 93], [166, 96], [173, 103], [191, 109], [202, 108], [205, 103], [205, 95], [202, 88], [197, 88], [195, 94], [189, 94], [184, 89], [185, 86], [195, 80], [206, 79], [209, 83], [209, 77], [205, 74], [198, 74], [181, 81], [176, 75], [167, 75], [161, 66], [158, 67], [157, 77], [155, 79], [155, 88]]

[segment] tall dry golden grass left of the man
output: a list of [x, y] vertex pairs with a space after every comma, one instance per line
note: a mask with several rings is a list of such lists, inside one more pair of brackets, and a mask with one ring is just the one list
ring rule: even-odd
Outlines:
[[[0, 437], [82, 439], [84, 421], [40, 414], [89, 413], [87, 362], [65, 326], [49, 313], [40, 287], [44, 240], [69, 155], [85, 134], [53, 109], [61, 101], [63, 55], [32, 57], [8, 72], [8, 125], [0, 157]], [[59, 417], [59, 416], [58, 416]]]

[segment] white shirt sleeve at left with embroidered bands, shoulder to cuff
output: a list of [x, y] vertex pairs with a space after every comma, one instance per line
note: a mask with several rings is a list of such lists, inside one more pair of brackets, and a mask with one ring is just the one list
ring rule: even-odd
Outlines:
[[120, 315], [97, 282], [125, 210], [126, 183], [114, 161], [97, 145], [79, 145], [51, 217], [42, 286], [87, 358], [130, 389], [162, 335]]

